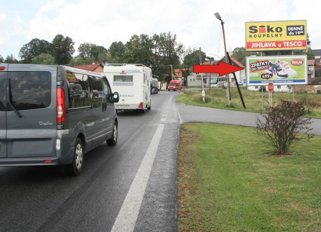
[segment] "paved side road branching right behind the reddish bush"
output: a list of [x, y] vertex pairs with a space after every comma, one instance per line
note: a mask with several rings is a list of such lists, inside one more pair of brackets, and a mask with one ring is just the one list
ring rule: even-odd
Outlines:
[[[184, 123], [208, 122], [256, 127], [257, 117], [264, 120], [258, 113], [190, 106], [181, 103], [178, 103], [178, 110]], [[313, 128], [311, 133], [321, 135], [321, 119], [311, 119], [309, 127]]]

